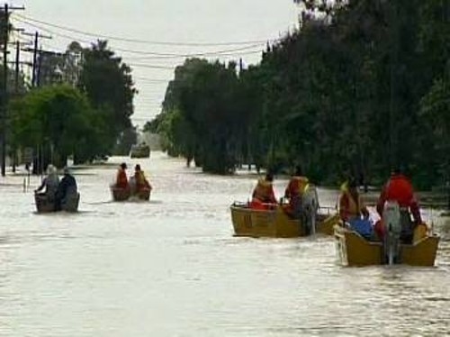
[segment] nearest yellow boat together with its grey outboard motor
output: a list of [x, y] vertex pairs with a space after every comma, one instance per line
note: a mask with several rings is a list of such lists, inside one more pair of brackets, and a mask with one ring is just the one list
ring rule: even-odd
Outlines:
[[341, 264], [361, 267], [383, 264], [434, 266], [439, 236], [422, 223], [415, 227], [410, 243], [401, 242], [399, 207], [394, 206], [391, 211], [391, 214], [383, 216], [386, 228], [383, 241], [369, 240], [342, 224], [335, 225], [336, 248]]

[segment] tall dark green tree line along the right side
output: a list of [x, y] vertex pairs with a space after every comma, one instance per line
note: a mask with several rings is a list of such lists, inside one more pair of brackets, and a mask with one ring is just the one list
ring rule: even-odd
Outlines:
[[147, 129], [207, 172], [301, 165], [318, 183], [379, 185], [400, 166], [445, 183], [450, 1], [295, 2], [299, 28], [257, 66], [186, 59]]

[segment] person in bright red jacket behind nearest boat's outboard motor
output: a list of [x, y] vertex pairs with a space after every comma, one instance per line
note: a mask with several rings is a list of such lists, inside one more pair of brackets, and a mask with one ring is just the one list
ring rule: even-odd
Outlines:
[[[383, 186], [380, 197], [376, 204], [376, 211], [383, 219], [384, 204], [387, 201], [394, 201], [400, 207], [401, 218], [401, 236], [403, 243], [411, 243], [414, 235], [414, 229], [422, 224], [420, 216], [419, 203], [416, 199], [414, 188], [410, 179], [404, 176], [401, 168], [392, 169], [391, 178]], [[413, 221], [411, 220], [411, 214]], [[383, 222], [377, 223], [377, 234], [384, 237], [385, 228]]]

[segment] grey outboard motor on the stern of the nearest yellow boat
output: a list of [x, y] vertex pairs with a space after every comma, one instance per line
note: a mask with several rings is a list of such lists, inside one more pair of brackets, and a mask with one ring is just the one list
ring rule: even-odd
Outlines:
[[383, 209], [383, 223], [386, 229], [384, 237], [384, 257], [390, 265], [399, 262], [401, 214], [396, 201], [386, 201]]

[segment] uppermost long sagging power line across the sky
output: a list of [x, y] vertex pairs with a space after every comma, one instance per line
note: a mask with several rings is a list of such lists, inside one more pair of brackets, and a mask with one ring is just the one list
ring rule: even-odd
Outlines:
[[[266, 43], [267, 41], [229, 41], [229, 42], [176, 42], [176, 41], [148, 41], [148, 40], [139, 40], [139, 39], [130, 39], [130, 38], [121, 38], [117, 36], [112, 35], [104, 35], [104, 34], [98, 34], [93, 32], [85, 32], [80, 31], [75, 28], [67, 27], [58, 25], [55, 23], [47, 23], [41, 20], [33, 19], [29, 16], [16, 14], [23, 20], [31, 21], [32, 23], [40, 23], [44, 24], [53, 28], [58, 28], [63, 31], [67, 32], [76, 32], [81, 35], [85, 36], [91, 36], [96, 38], [102, 38], [102, 39], [108, 39], [113, 41], [123, 41], [123, 42], [133, 42], [133, 43], [144, 43], [144, 44], [154, 44], [154, 45], [161, 45], [161, 46], [185, 46], [185, 47], [207, 47], [207, 46], [231, 46], [231, 45], [243, 45], [243, 44], [262, 44]], [[279, 39], [276, 39], [279, 40]]]

